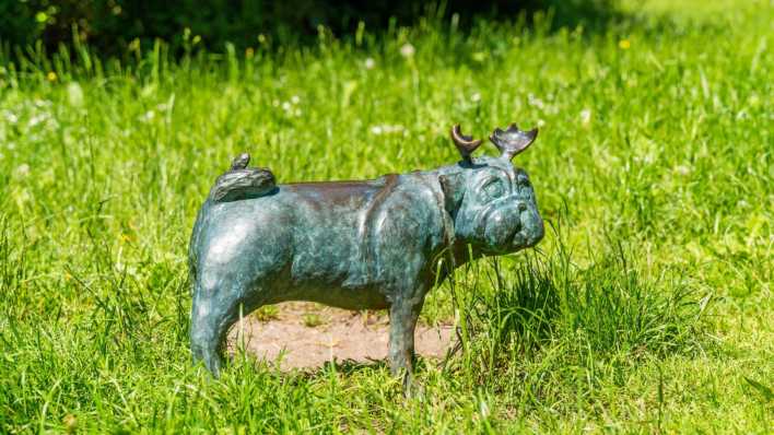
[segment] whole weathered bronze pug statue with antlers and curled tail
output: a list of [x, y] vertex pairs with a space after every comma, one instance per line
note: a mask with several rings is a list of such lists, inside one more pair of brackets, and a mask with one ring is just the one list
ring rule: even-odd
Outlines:
[[[497, 157], [452, 130], [462, 161], [364, 181], [275, 185], [249, 155], [212, 188], [196, 220], [191, 352], [215, 375], [228, 328], [266, 304], [312, 301], [389, 309], [389, 363], [410, 381], [414, 327], [425, 294], [472, 257], [533, 246], [543, 237], [527, 173], [511, 158], [537, 130], [491, 137]], [[469, 249], [470, 247], [470, 249]], [[438, 267], [443, 260], [444, 267]]]

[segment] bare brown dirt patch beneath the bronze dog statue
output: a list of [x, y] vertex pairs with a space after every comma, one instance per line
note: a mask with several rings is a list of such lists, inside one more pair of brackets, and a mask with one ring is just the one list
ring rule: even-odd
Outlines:
[[[251, 315], [237, 322], [228, 334], [228, 350], [233, 353], [244, 339], [246, 351], [257, 357], [272, 365], [279, 363], [283, 371], [303, 369], [328, 362], [385, 360], [388, 337], [389, 320], [384, 313], [286, 303], [269, 316]], [[420, 325], [414, 337], [417, 353], [442, 358], [453, 338], [450, 325]]]

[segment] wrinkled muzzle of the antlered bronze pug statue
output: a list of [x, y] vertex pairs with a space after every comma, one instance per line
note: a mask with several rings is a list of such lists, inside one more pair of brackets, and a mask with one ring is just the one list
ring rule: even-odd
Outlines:
[[533, 202], [505, 198], [483, 213], [481, 236], [494, 252], [514, 252], [543, 238], [543, 221]]

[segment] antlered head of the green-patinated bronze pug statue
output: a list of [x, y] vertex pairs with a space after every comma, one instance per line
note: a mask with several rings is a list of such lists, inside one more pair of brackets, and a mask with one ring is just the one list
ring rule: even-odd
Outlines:
[[462, 136], [459, 126], [452, 129], [462, 161], [442, 171], [438, 180], [457, 239], [493, 255], [515, 252], [543, 238], [543, 221], [532, 185], [527, 173], [511, 162], [537, 136], [537, 129], [521, 131], [515, 124], [507, 130], [497, 128], [490, 140], [501, 155], [472, 158], [470, 154], [481, 141]]

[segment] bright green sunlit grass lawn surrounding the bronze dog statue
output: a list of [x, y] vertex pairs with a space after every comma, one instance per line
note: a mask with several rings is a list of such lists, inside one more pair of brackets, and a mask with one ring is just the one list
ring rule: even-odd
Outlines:
[[[0, 58], [0, 432], [771, 433], [772, 3], [622, 8]], [[191, 365], [188, 236], [234, 155], [373, 178], [457, 161], [453, 122], [509, 121], [540, 127], [516, 162], [551, 228], [431, 293], [423, 321], [464, 340], [421, 393], [384, 364]]]

